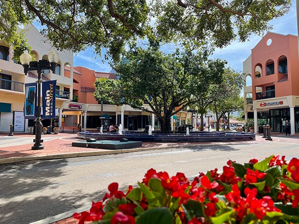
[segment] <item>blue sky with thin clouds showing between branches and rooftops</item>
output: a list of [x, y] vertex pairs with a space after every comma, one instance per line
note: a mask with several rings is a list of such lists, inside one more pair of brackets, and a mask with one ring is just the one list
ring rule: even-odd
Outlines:
[[[273, 29], [270, 32], [279, 34], [292, 34], [298, 36], [297, 31], [297, 18], [296, 18], [296, 0], [292, 0], [292, 8], [288, 14], [272, 20], [270, 24], [273, 25]], [[216, 49], [212, 58], [221, 58], [228, 62], [228, 66], [237, 72], [243, 70], [243, 61], [245, 61], [251, 54], [251, 49], [258, 44], [262, 39], [261, 36], [252, 35], [247, 42], [233, 41], [229, 46], [223, 49]], [[108, 61], [105, 61], [100, 56], [96, 58], [92, 48], [74, 55], [74, 66], [86, 67], [90, 70], [97, 72], [110, 72], [111, 67]]]

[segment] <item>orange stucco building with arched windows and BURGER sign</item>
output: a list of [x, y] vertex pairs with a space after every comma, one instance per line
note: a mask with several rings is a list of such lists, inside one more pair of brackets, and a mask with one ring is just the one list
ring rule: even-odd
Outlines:
[[245, 121], [254, 120], [257, 133], [264, 124], [291, 134], [299, 132], [299, 56], [298, 37], [269, 32], [243, 62], [243, 71], [252, 79], [244, 89]]

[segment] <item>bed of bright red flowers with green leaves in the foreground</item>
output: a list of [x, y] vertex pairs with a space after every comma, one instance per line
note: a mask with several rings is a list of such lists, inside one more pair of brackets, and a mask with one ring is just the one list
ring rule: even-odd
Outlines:
[[189, 181], [150, 169], [127, 192], [108, 186], [103, 200], [73, 217], [99, 224], [298, 224], [299, 159], [228, 161]]

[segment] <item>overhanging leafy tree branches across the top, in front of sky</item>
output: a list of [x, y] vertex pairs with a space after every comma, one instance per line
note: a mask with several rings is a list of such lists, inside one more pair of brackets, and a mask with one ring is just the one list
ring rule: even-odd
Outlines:
[[291, 0], [0, 0], [0, 39], [26, 47], [17, 24], [41, 24], [59, 50], [106, 48], [114, 61], [126, 44], [154, 35], [164, 42], [188, 39], [198, 45], [228, 45], [239, 36], [271, 29], [269, 21], [287, 13]]

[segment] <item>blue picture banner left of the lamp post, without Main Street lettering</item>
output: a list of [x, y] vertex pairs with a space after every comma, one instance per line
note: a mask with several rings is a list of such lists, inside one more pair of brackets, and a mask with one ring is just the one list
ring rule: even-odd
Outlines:
[[25, 83], [25, 104], [24, 118], [35, 119], [36, 117], [36, 100], [37, 100], [37, 83]]

